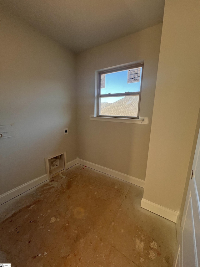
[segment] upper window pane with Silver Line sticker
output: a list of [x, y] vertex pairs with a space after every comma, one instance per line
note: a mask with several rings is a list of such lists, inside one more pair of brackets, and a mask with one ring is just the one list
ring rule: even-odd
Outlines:
[[101, 74], [101, 95], [139, 92], [142, 67]]

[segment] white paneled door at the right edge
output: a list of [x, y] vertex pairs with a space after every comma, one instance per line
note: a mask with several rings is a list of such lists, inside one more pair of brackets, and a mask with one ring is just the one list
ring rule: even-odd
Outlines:
[[200, 131], [181, 223], [175, 267], [200, 267]]

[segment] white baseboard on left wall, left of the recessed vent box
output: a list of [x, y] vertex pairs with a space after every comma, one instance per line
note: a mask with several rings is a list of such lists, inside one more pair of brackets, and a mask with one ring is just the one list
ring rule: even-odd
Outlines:
[[27, 190], [41, 184], [42, 182], [47, 181], [48, 177], [47, 174], [44, 174], [40, 177], [35, 178], [34, 180], [24, 183], [2, 195], [0, 195], [0, 205], [7, 202], [8, 200], [11, 200], [12, 198], [15, 198], [22, 193], [26, 192]]

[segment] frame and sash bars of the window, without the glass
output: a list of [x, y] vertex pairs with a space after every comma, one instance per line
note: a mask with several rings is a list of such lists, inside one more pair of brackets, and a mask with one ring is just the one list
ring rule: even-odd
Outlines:
[[[118, 72], [118, 71], [123, 71], [123, 70], [128, 70], [128, 69], [135, 69], [135, 68], [140, 68], [142, 67], [142, 73], [141, 73], [141, 83], [140, 83], [140, 91], [139, 92], [126, 92], [126, 93], [116, 93], [116, 94], [100, 94], [101, 93], [101, 75], [102, 74], [108, 74], [108, 73], [113, 73], [113, 72]], [[139, 119], [139, 112], [140, 112], [140, 101], [141, 101], [141, 91], [142, 91], [142, 80], [143, 80], [143, 67], [144, 63], [139, 63], [139, 64], [131, 64], [131, 65], [121, 65], [118, 67], [113, 67], [109, 68], [107, 70], [101, 70], [98, 71], [98, 96], [97, 96], [97, 117], [106, 117], [106, 118], [123, 118], [123, 119]], [[131, 95], [139, 95], [139, 102], [138, 102], [138, 116], [133, 117], [133, 116], [107, 116], [107, 115], [100, 115], [100, 97], [112, 97], [112, 96], [131, 96]]]

